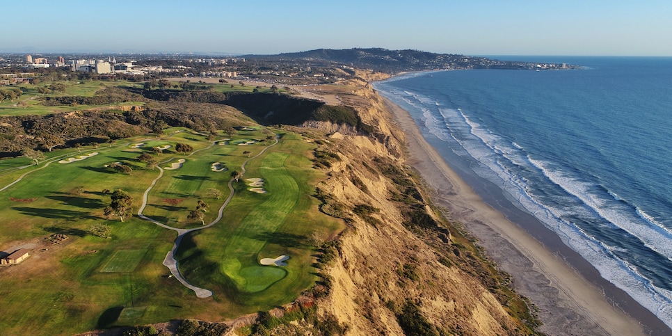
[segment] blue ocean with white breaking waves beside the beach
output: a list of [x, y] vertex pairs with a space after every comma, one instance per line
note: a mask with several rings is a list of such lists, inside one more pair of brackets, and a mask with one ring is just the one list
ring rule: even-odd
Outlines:
[[374, 88], [477, 193], [495, 184], [672, 327], [672, 58], [499, 59], [582, 69], [419, 72]]

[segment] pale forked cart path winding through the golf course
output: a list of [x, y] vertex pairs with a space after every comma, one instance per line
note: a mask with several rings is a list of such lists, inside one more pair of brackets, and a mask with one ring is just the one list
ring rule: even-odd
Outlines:
[[[197, 152], [200, 152], [200, 151], [202, 151], [202, 150], [207, 150], [207, 149], [209, 149], [210, 147], [214, 146], [215, 144], [216, 144], [216, 141], [212, 142], [211, 145], [209, 145], [208, 147], [205, 147], [205, 148], [202, 148], [202, 149], [200, 149], [200, 150], [196, 150], [196, 151], [194, 151], [194, 152], [191, 152], [191, 154], [189, 154], [187, 157], [191, 157], [191, 155], [193, 155], [193, 154], [195, 154], [195, 153], [197, 153]], [[246, 170], [245, 170], [245, 166], [246, 166], [246, 164], [248, 163], [248, 161], [250, 161], [250, 160], [252, 160], [252, 159], [256, 159], [257, 157], [259, 157], [259, 156], [261, 156], [262, 154], [264, 154], [264, 152], [266, 152], [266, 150], [268, 150], [270, 147], [272, 147], [272, 146], [274, 146], [274, 145], [277, 145], [277, 144], [278, 144], [278, 134], [275, 134], [275, 142], [274, 142], [274, 143], [271, 143], [271, 145], [268, 145], [268, 146], [264, 147], [264, 149], [261, 150], [261, 152], [259, 152], [259, 154], [255, 155], [254, 157], [250, 157], [249, 159], [243, 161], [243, 164], [241, 164], [241, 173], [240, 173], [240, 175], [239, 175], [239, 179], [240, 179], [241, 177], [243, 177], [243, 174], [246, 172]], [[159, 163], [159, 164], [168, 163], [168, 162], [172, 161], [173, 159], [175, 159], [175, 158], [172, 158], [172, 159], [170, 159], [170, 160], [163, 161], [163, 162], [161, 162], [161, 163]], [[140, 209], [138, 209], [138, 217], [143, 218], [143, 219], [145, 219], [145, 220], [147, 220], [147, 221], [150, 221], [150, 222], [152, 222], [152, 223], [154, 223], [154, 224], [156, 224], [156, 225], [159, 225], [160, 227], [163, 227], [163, 228], [165, 228], [165, 229], [173, 230], [173, 231], [177, 232], [177, 238], [175, 239], [175, 244], [173, 245], [173, 249], [170, 250], [170, 251], [168, 251], [168, 254], [166, 254], [166, 258], [163, 259], [163, 266], [168, 267], [168, 269], [170, 270], [170, 273], [173, 274], [173, 276], [177, 279], [177, 281], [179, 281], [180, 283], [182, 283], [182, 285], [184, 285], [185, 287], [187, 287], [187, 288], [193, 290], [193, 291], [195, 292], [195, 294], [196, 294], [196, 297], [198, 297], [198, 298], [208, 298], [208, 297], [212, 296], [212, 291], [210, 291], [210, 290], [208, 290], [208, 289], [205, 289], [205, 288], [200, 288], [200, 287], [196, 287], [196, 286], [194, 286], [194, 285], [191, 285], [191, 284], [189, 283], [189, 281], [187, 281], [187, 280], [184, 278], [184, 276], [182, 276], [182, 273], [179, 273], [179, 268], [177, 267], [177, 259], [175, 259], [175, 253], [177, 253], [177, 248], [179, 247], [179, 243], [182, 241], [182, 238], [184, 237], [185, 234], [188, 234], [189, 232], [193, 232], [193, 231], [196, 231], [196, 230], [203, 230], [203, 229], [206, 229], [206, 228], [208, 228], [208, 227], [211, 227], [212, 225], [215, 225], [215, 224], [218, 223], [219, 221], [221, 221], [221, 219], [222, 219], [222, 217], [223, 217], [223, 215], [224, 215], [224, 208], [225, 208], [227, 205], [229, 205], [229, 202], [230, 202], [231, 199], [233, 198], [233, 194], [234, 194], [234, 189], [233, 189], [234, 178], [232, 178], [232, 179], [229, 180], [229, 183], [228, 183], [229, 191], [230, 191], [230, 193], [229, 193], [229, 197], [227, 197], [226, 200], [224, 201], [223, 205], [222, 205], [221, 207], [219, 207], [219, 211], [218, 211], [218, 214], [217, 214], [217, 218], [215, 218], [214, 221], [211, 221], [211, 222], [208, 223], [207, 225], [203, 225], [203, 226], [201, 226], [201, 227], [194, 227], [194, 228], [192, 228], [192, 229], [179, 229], [179, 228], [177, 228], [177, 227], [172, 227], [172, 226], [168, 226], [168, 225], [166, 225], [166, 224], [160, 223], [159, 221], [155, 220], [154, 218], [150, 218], [150, 217], [147, 217], [147, 216], [143, 215], [143, 210], [144, 210], [145, 207], [147, 206], [147, 198], [148, 198], [149, 195], [150, 195], [150, 191], [152, 191], [152, 188], [154, 188], [154, 185], [157, 184], [157, 182], [159, 181], [159, 179], [161, 179], [161, 177], [163, 177], [163, 168], [161, 168], [161, 167], [158, 166], [158, 165], [157, 165], [157, 167], [159, 168], [159, 176], [157, 176], [157, 178], [155, 178], [155, 179], [152, 181], [152, 183], [150, 184], [150, 186], [147, 187], [147, 190], [145, 190], [145, 193], [143, 194], [143, 204], [141, 205]]]

